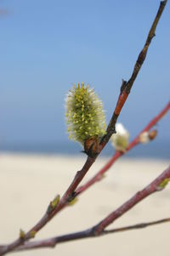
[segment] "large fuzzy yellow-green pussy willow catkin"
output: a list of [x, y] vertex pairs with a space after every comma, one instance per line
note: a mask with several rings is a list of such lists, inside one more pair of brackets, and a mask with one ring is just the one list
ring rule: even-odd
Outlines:
[[86, 139], [102, 137], [105, 134], [105, 113], [103, 105], [93, 88], [82, 82], [71, 88], [66, 99], [66, 122], [69, 138], [82, 145]]

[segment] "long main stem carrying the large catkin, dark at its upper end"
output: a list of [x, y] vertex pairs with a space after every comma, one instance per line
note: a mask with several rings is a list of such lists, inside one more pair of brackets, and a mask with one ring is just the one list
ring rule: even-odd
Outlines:
[[[155, 36], [156, 26], [157, 26], [158, 21], [161, 18], [161, 14], [166, 6], [166, 3], [167, 3], [167, 0], [161, 1], [161, 3], [160, 3], [160, 7], [156, 14], [156, 18], [150, 28], [150, 32], [146, 39], [146, 43], [144, 44], [144, 48], [142, 49], [141, 53], [139, 54], [139, 58], [138, 58], [136, 64], [134, 65], [132, 76], [130, 77], [128, 82], [125, 82], [125, 81], [122, 82], [121, 94], [119, 95], [119, 98], [117, 100], [116, 109], [113, 113], [113, 116], [111, 117], [111, 121], [107, 128], [107, 133], [104, 136], [104, 138], [101, 139], [101, 141], [100, 141], [99, 153], [103, 150], [103, 148], [105, 147], [105, 145], [111, 138], [111, 135], [113, 133], [115, 133], [115, 124], [116, 124], [117, 117], [120, 115], [120, 113], [122, 111], [122, 106], [124, 105], [125, 101], [127, 100], [127, 96], [130, 93], [131, 88], [133, 87], [133, 82], [134, 82], [135, 78], [138, 76], [139, 70], [144, 62], [144, 59], [147, 54], [147, 50], [150, 46], [151, 40]], [[26, 242], [27, 240], [31, 239], [32, 234], [35, 235], [39, 230], [41, 230], [42, 227], [44, 225], [46, 225], [48, 223], [48, 221], [50, 219], [52, 219], [54, 217], [54, 215], [56, 215], [56, 213], [58, 213], [59, 210], [65, 206], [65, 204], [67, 204], [67, 202], [69, 202], [71, 200], [72, 196], [74, 196], [77, 186], [80, 184], [80, 182], [82, 181], [85, 174], [87, 174], [88, 169], [95, 162], [95, 159], [97, 156], [99, 156], [99, 153], [93, 154], [94, 155], [93, 157], [88, 156], [88, 159], [85, 162], [82, 170], [77, 172], [75, 178], [71, 182], [71, 185], [65, 191], [64, 196], [62, 196], [59, 204], [53, 209], [53, 211], [47, 211], [43, 215], [42, 219], [40, 219], [38, 221], [38, 223], [31, 228], [31, 230], [26, 232], [24, 237], [18, 238], [14, 242], [8, 244], [8, 246], [0, 247], [0, 255], [4, 255], [5, 253], [8, 253], [8, 252], [14, 250], [14, 248], [19, 247], [21, 243]]]

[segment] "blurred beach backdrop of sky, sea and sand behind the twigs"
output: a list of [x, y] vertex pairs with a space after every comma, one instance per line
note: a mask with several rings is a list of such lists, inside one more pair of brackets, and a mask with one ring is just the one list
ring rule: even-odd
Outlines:
[[[89, 83], [103, 100], [109, 122], [122, 78], [131, 76], [158, 6], [158, 0], [0, 0], [0, 244], [36, 224], [84, 164], [81, 146], [66, 133], [65, 95], [74, 83]], [[130, 139], [170, 99], [169, 13], [168, 1], [118, 120]], [[161, 174], [169, 164], [169, 121], [167, 113], [156, 125], [153, 142], [117, 161], [102, 182], [48, 223], [37, 239], [97, 224]], [[111, 145], [102, 154], [83, 182], [105, 165], [113, 154]], [[167, 218], [169, 198], [168, 187], [111, 227]], [[169, 236], [169, 225], [156, 225], [22, 255], [160, 256], [169, 251]]]

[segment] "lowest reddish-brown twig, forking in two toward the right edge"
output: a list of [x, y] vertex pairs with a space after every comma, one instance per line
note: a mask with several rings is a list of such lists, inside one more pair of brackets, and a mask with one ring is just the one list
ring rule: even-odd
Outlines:
[[18, 250], [26, 250], [26, 249], [32, 249], [32, 248], [38, 248], [38, 247], [54, 247], [57, 243], [60, 243], [60, 242], [68, 242], [68, 241], [73, 241], [77, 239], [93, 237], [93, 236], [101, 236], [101, 235], [116, 233], [116, 232], [125, 231], [125, 230], [139, 229], [149, 225], [157, 225], [157, 224], [170, 221], [170, 218], [168, 218], [168, 219], [157, 220], [150, 223], [131, 225], [131, 226], [117, 228], [113, 230], [105, 230], [105, 228], [108, 225], [110, 225], [116, 219], [120, 218], [124, 213], [126, 213], [131, 208], [133, 208], [137, 203], [144, 200], [145, 197], [150, 196], [156, 191], [161, 191], [163, 189], [163, 187], [161, 186], [161, 183], [165, 179], [170, 179], [170, 167], [167, 168], [167, 170], [165, 170], [156, 179], [154, 179], [142, 191], [139, 191], [133, 197], [131, 197], [127, 202], [124, 202], [121, 207], [117, 208], [116, 211], [111, 213], [109, 216], [107, 216], [105, 219], [100, 221], [99, 224], [95, 225], [94, 227], [88, 230], [82, 230], [80, 232], [71, 233], [64, 236], [55, 236], [42, 241], [26, 242], [23, 246], [19, 247]]

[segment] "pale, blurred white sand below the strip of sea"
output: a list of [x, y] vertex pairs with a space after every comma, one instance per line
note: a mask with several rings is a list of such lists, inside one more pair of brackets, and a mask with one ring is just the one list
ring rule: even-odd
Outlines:
[[[106, 162], [100, 158], [86, 179]], [[11, 242], [20, 228], [28, 230], [37, 222], [56, 194], [62, 195], [82, 167], [85, 156], [0, 155], [0, 244]], [[43, 228], [36, 239], [87, 229], [111, 213], [122, 202], [167, 168], [161, 160], [119, 159], [105, 179], [65, 208]], [[131, 225], [170, 216], [170, 185], [139, 203], [111, 227]], [[54, 249], [38, 249], [14, 255], [169, 255], [170, 224], [156, 225], [109, 236], [59, 244]]]

